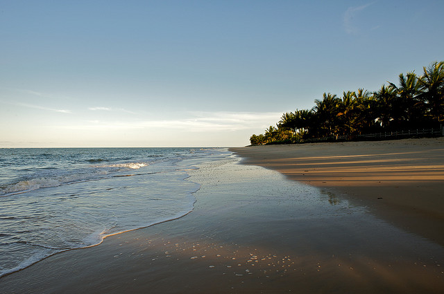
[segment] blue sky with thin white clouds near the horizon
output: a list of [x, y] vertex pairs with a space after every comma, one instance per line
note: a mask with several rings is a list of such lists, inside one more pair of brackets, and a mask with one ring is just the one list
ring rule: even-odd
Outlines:
[[0, 0], [0, 147], [237, 147], [444, 60], [444, 1]]

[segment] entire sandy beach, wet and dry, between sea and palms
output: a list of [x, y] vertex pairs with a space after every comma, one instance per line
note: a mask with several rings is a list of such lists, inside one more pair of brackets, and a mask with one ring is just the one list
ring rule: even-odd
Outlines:
[[189, 171], [189, 214], [48, 257], [1, 292], [443, 292], [442, 138], [231, 150], [244, 159]]

